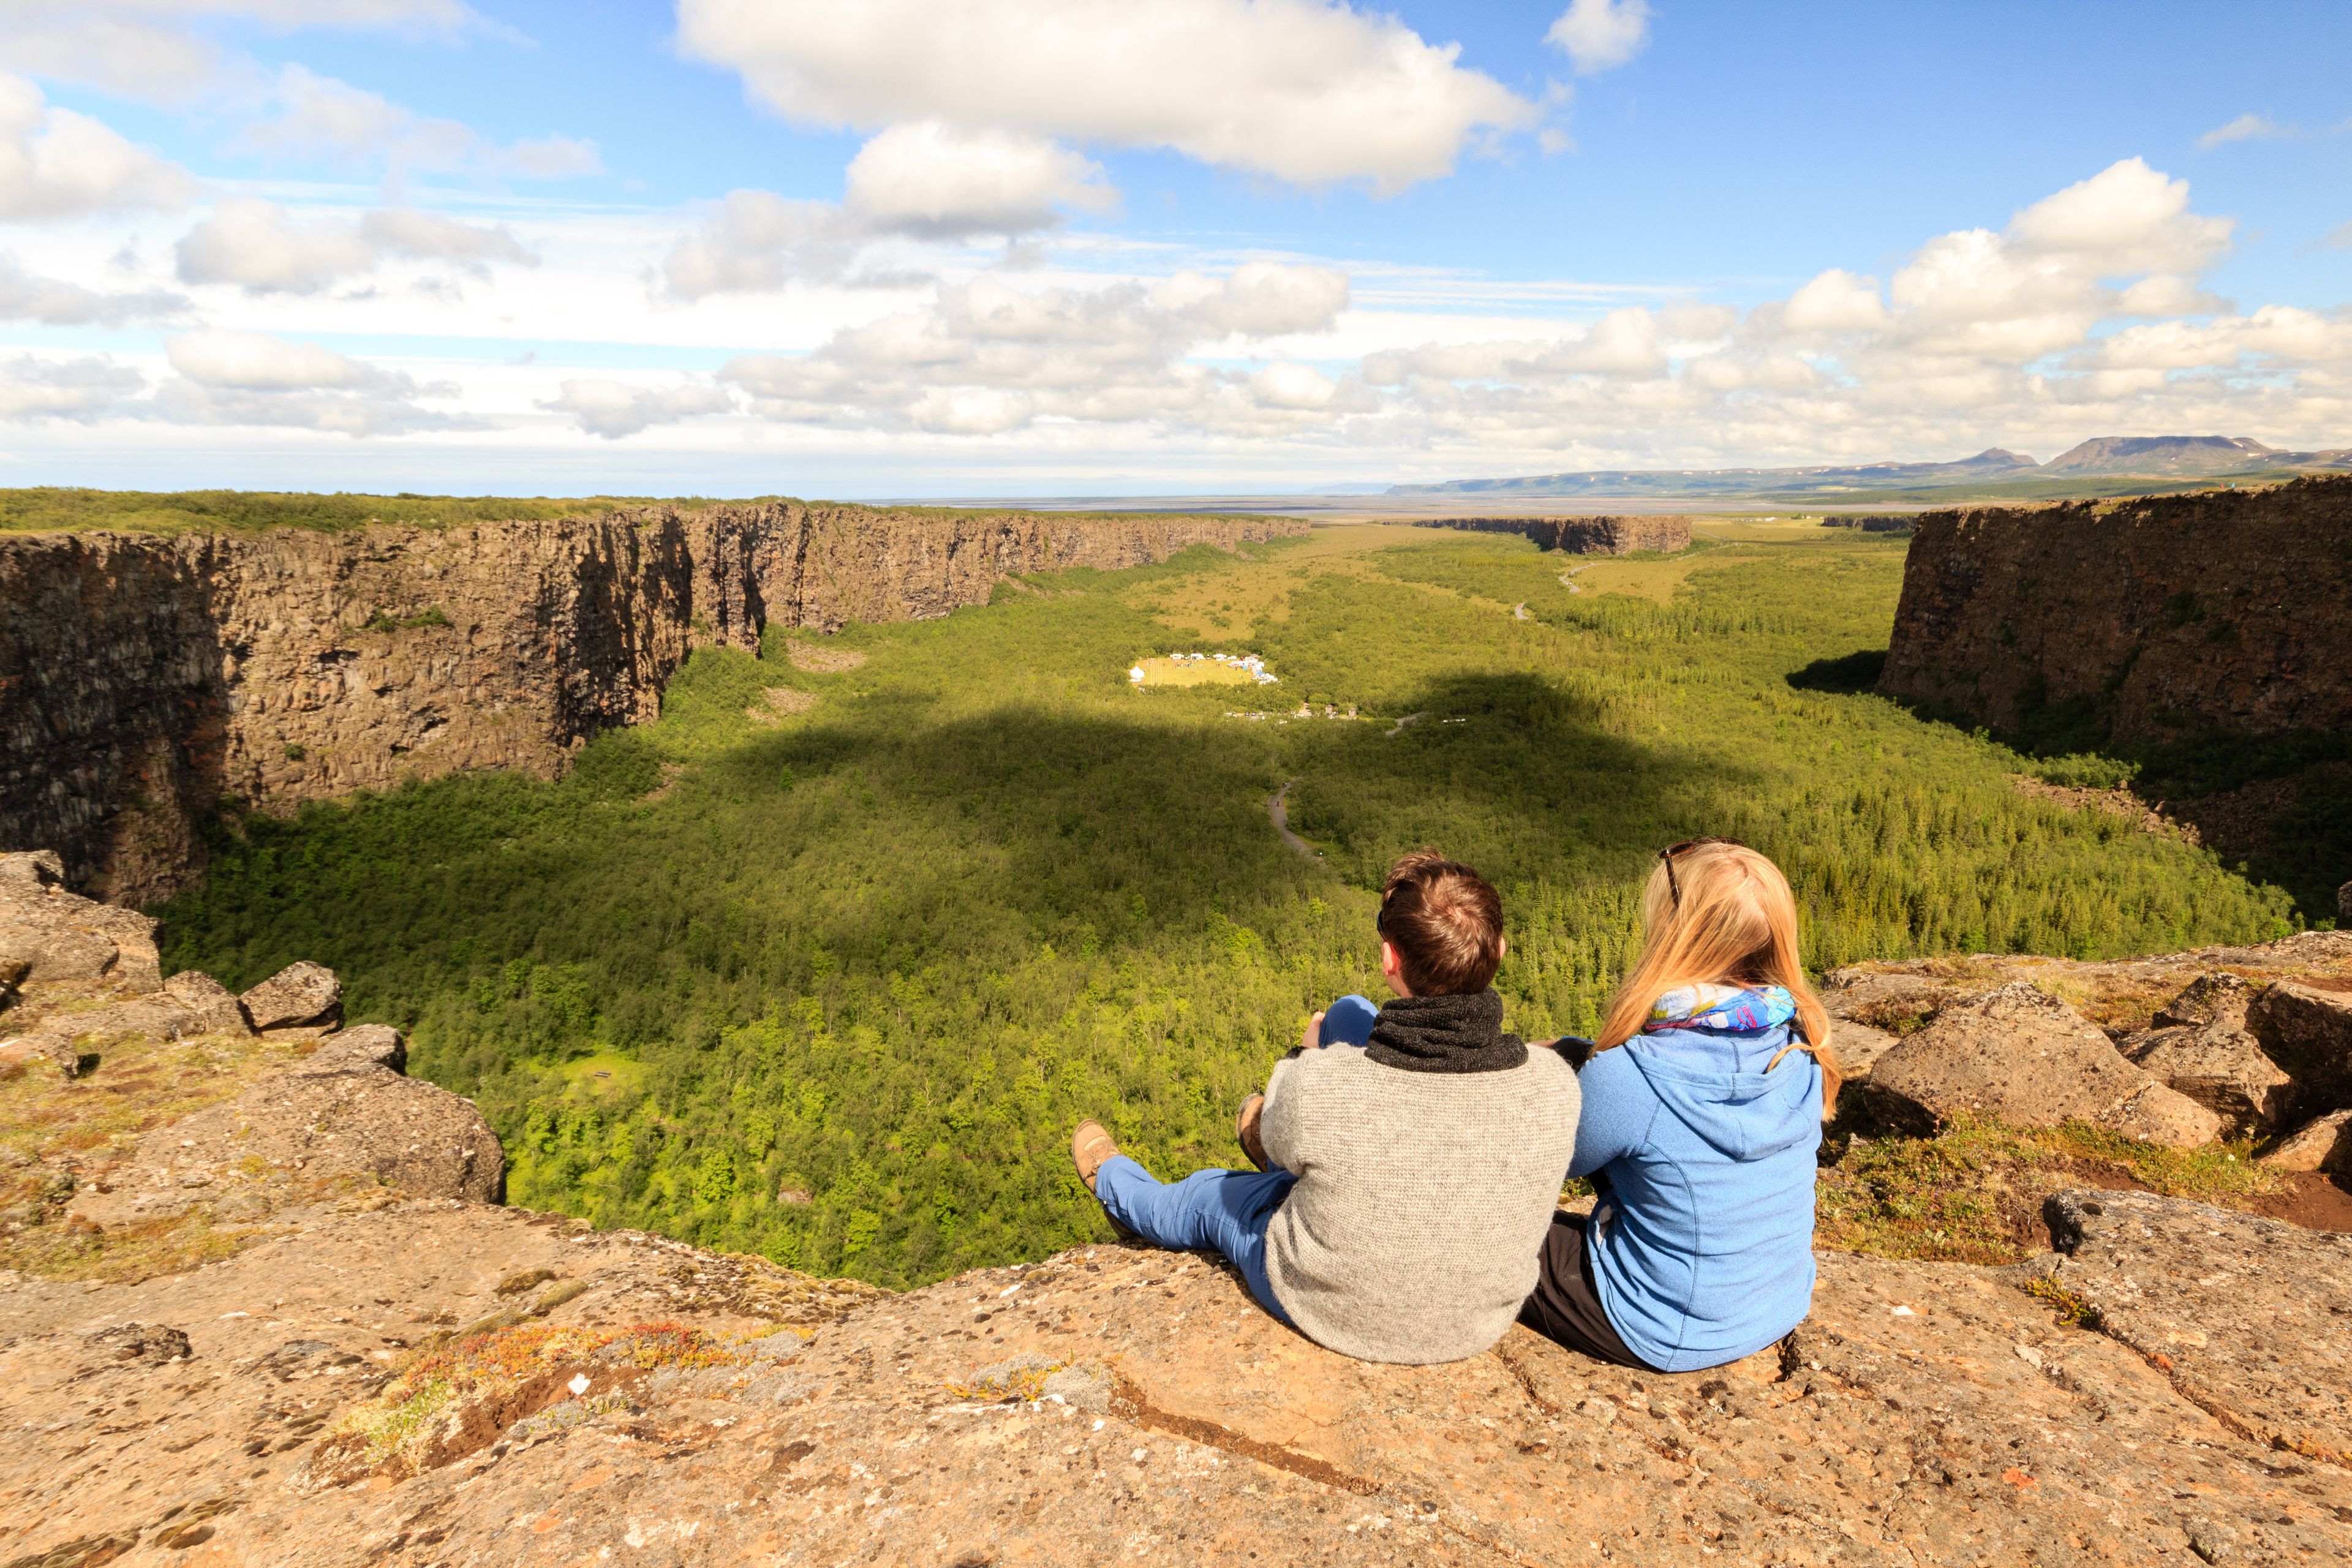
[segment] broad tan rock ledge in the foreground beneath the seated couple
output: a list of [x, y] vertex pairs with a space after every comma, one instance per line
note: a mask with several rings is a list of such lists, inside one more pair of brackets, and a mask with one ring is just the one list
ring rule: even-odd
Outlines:
[[[141, 1286], [0, 1281], [0, 1552], [202, 1547], [254, 1568], [2352, 1554], [2352, 1472], [2326, 1427], [2352, 1248], [2133, 1204], [2023, 1269], [1823, 1255], [1795, 1335], [1675, 1378], [1524, 1328], [1449, 1366], [1348, 1361], [1214, 1260], [1129, 1246], [882, 1295], [524, 1211], [322, 1211]], [[2223, 1293], [2237, 1302], [2216, 1312]]]

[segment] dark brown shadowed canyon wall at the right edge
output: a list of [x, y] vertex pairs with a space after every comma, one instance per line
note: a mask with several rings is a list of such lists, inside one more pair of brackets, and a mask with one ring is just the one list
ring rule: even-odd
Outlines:
[[2352, 731], [2352, 477], [1922, 512], [1879, 691], [2117, 741]]

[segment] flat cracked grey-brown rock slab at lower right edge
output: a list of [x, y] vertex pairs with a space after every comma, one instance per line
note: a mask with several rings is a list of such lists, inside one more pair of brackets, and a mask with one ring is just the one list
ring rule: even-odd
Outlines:
[[2352, 1234], [2152, 1192], [2060, 1192], [2042, 1218], [2058, 1258], [2023, 1267], [2053, 1295], [2230, 1432], [2352, 1467]]

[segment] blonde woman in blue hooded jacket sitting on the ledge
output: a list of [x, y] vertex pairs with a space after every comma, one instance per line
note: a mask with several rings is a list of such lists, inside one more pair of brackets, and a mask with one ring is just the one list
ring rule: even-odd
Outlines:
[[1780, 867], [1729, 839], [1658, 853], [1649, 940], [1581, 1077], [1569, 1175], [1519, 1321], [1618, 1366], [1689, 1373], [1764, 1349], [1813, 1305], [1813, 1157], [1837, 1103]]

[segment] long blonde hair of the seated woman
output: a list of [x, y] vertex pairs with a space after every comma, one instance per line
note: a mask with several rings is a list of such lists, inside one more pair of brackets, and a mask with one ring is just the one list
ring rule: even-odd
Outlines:
[[[1797, 952], [1797, 896], [1780, 867], [1745, 844], [1703, 839], [1661, 856], [1642, 893], [1646, 938], [1625, 985], [1602, 1020], [1597, 1051], [1642, 1032], [1651, 1004], [1684, 985], [1780, 985], [1797, 999], [1802, 1041], [1820, 1063], [1823, 1114], [1837, 1105], [1839, 1070], [1830, 1051], [1830, 1011], [1804, 978]], [[1773, 1058], [1778, 1063], [1778, 1058]]]

